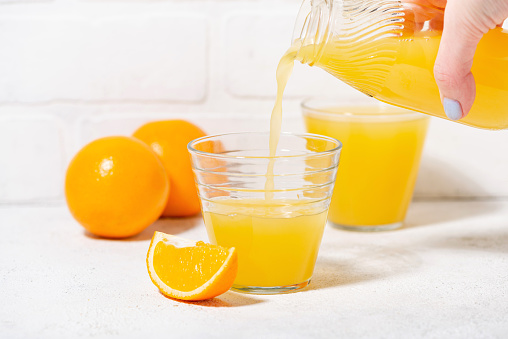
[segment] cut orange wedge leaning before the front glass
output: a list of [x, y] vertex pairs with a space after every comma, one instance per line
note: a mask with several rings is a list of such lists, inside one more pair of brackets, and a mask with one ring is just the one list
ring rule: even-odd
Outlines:
[[150, 279], [166, 296], [204, 300], [231, 288], [238, 271], [238, 256], [234, 247], [155, 232], [146, 265]]

